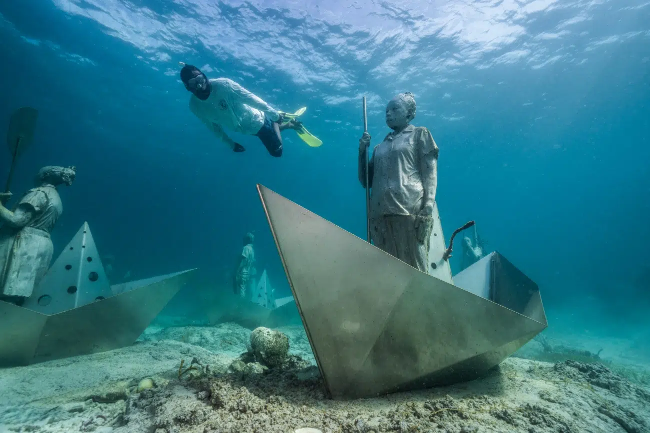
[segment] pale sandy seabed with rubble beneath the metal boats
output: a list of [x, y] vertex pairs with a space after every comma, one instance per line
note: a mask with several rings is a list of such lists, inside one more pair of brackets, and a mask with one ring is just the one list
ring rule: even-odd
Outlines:
[[[315, 365], [302, 327], [278, 330]], [[331, 401], [314, 366], [228, 373], [250, 332], [149, 327], [131, 347], [0, 369], [0, 432], [650, 432], [650, 388], [603, 364], [511, 357], [473, 382]]]

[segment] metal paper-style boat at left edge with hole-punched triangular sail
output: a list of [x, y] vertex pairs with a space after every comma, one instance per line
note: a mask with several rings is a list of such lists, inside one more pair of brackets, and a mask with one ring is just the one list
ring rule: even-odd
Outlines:
[[111, 287], [84, 223], [23, 306], [0, 301], [0, 365], [131, 345], [192, 270]]

